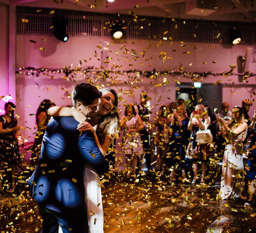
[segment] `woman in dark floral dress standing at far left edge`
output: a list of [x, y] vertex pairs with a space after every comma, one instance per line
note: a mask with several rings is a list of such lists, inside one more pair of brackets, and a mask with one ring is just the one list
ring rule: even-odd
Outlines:
[[[20, 161], [19, 144], [15, 135], [20, 127], [14, 117], [15, 107], [12, 102], [5, 103], [5, 114], [0, 116], [0, 168], [3, 170], [6, 166], [4, 162], [7, 163], [8, 168], [11, 168], [12, 188], [16, 188], [15, 174]], [[0, 189], [2, 190], [2, 180], [0, 180]]]

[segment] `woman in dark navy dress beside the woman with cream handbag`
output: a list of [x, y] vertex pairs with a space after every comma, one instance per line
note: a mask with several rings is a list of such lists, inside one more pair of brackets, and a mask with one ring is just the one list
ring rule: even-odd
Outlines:
[[[174, 112], [171, 117], [170, 131], [172, 135], [170, 137], [169, 150], [172, 153], [171, 164], [172, 168], [170, 174], [173, 180], [175, 177], [175, 164], [179, 163], [182, 168], [181, 177], [186, 178], [185, 173], [185, 155], [188, 145], [189, 131], [188, 131], [189, 118], [185, 116], [185, 107], [183, 105], [177, 106], [177, 112]], [[178, 159], [177, 159], [178, 158]]]

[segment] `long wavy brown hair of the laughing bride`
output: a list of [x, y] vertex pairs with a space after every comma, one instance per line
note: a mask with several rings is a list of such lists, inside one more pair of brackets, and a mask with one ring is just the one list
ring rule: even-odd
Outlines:
[[[103, 88], [99, 91], [102, 93], [102, 96], [106, 92], [111, 92], [114, 95], [115, 102], [114, 102], [114, 107], [113, 107], [112, 111], [116, 110], [118, 107], [118, 97], [117, 97], [116, 91], [113, 89], [109, 89], [109, 88]], [[111, 113], [111, 112], [105, 116], [102, 116], [98, 123], [98, 127], [96, 129], [96, 134], [98, 135], [100, 144], [104, 143], [106, 136], [110, 136], [110, 137], [119, 137], [120, 136], [119, 115], [118, 115], [117, 111], [114, 113]]]

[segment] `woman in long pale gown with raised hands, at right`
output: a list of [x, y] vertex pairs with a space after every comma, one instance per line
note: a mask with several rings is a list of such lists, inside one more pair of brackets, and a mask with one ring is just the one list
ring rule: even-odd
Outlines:
[[222, 163], [222, 178], [220, 196], [222, 199], [241, 197], [244, 175], [243, 141], [247, 135], [247, 123], [244, 120], [243, 109], [235, 106], [232, 109], [232, 120], [226, 124], [223, 118], [219, 119], [220, 130], [224, 138], [230, 143], [226, 144]]

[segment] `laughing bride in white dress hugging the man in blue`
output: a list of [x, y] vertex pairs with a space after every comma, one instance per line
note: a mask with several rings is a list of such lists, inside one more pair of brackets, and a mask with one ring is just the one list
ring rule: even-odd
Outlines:
[[[105, 156], [114, 137], [120, 135], [120, 123], [117, 113], [118, 97], [113, 89], [101, 89], [102, 97], [99, 100], [98, 111], [86, 121], [86, 117], [78, 110], [68, 107], [55, 106], [48, 110], [53, 117], [73, 116], [80, 123], [77, 126], [79, 131], [90, 130], [96, 143]], [[103, 232], [103, 207], [101, 188], [99, 187], [99, 175], [88, 164], [84, 165], [84, 188], [85, 203], [87, 206], [88, 224], [90, 233]], [[61, 226], [59, 233], [61, 233]]]

